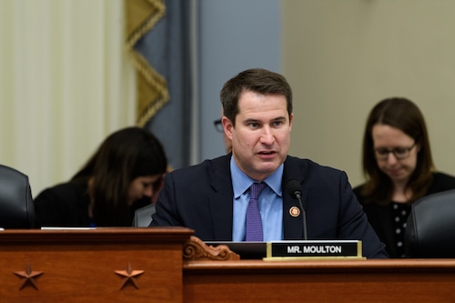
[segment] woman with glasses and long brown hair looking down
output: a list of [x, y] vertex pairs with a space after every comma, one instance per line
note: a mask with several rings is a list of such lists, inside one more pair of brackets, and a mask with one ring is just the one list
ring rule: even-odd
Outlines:
[[373, 107], [363, 136], [363, 171], [367, 182], [354, 192], [389, 256], [403, 258], [410, 205], [420, 197], [455, 188], [455, 177], [434, 171], [427, 126], [418, 106], [394, 97]]

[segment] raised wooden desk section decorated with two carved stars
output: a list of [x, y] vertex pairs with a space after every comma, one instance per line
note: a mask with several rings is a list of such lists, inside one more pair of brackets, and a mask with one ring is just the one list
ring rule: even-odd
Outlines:
[[182, 247], [191, 234], [187, 228], [133, 227], [2, 231], [0, 298], [182, 302]]

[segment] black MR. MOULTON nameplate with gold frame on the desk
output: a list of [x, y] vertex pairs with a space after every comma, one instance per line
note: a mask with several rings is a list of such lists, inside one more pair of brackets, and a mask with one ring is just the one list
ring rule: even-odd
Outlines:
[[359, 240], [272, 241], [267, 258], [363, 258]]

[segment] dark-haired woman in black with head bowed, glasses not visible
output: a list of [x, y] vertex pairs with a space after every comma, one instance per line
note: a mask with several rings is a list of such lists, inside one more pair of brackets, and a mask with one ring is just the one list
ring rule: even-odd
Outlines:
[[35, 198], [36, 227], [131, 227], [135, 210], [157, 200], [166, 172], [156, 136], [118, 130], [69, 182]]

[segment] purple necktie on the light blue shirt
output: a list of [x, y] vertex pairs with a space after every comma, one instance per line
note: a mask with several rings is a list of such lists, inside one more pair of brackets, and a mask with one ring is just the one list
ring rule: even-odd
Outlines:
[[265, 183], [253, 183], [249, 187], [246, 241], [262, 241], [262, 220], [259, 213], [258, 197], [265, 187]]

